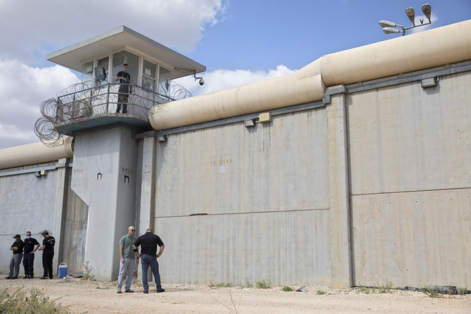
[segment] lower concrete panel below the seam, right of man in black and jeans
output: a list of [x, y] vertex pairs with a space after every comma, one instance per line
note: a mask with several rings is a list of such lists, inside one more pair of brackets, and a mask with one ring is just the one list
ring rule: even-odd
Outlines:
[[330, 285], [328, 210], [155, 219], [162, 283]]

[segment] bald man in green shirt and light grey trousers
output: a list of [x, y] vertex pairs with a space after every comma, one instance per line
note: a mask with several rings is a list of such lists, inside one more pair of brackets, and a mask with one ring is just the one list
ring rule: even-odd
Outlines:
[[121, 293], [121, 287], [123, 287], [123, 277], [126, 274], [126, 284], [124, 292], [134, 292], [131, 290], [132, 274], [134, 273], [135, 265], [139, 263], [139, 258], [136, 260], [134, 251], [132, 250], [132, 244], [137, 239], [134, 237], [136, 228], [133, 226], [128, 228], [128, 234], [123, 235], [119, 240], [119, 255], [121, 261], [119, 262], [119, 275], [118, 275], [118, 293]]

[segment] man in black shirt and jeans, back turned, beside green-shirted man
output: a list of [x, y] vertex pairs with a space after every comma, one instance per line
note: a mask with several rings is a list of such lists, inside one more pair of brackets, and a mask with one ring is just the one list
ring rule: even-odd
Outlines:
[[[141, 245], [141, 253], [138, 253], [137, 247]], [[160, 250], [157, 253], [157, 245], [160, 247]], [[165, 289], [162, 289], [160, 285], [160, 274], [158, 273], [158, 262], [157, 258], [160, 257], [163, 253], [162, 240], [158, 235], [154, 235], [152, 229], [147, 229], [145, 235], [141, 235], [132, 245], [134, 254], [137, 257], [141, 257], [141, 267], [142, 267], [142, 286], [144, 286], [144, 293], [149, 293], [149, 284], [147, 283], [147, 270], [151, 266], [152, 272], [154, 273], [154, 279], [156, 282], [157, 293], [163, 292]]]

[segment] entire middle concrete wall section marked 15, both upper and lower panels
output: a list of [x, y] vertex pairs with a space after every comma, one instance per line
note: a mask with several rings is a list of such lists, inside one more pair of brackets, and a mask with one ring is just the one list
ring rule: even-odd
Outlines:
[[163, 282], [329, 284], [326, 145], [323, 108], [157, 143]]

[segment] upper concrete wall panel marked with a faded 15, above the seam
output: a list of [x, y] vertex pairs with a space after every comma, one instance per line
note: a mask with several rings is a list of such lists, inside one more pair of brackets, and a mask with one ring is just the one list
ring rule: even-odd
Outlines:
[[157, 143], [155, 216], [327, 209], [325, 109]]

